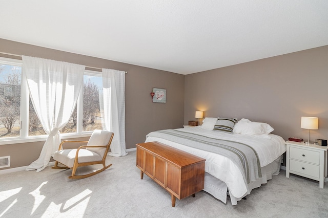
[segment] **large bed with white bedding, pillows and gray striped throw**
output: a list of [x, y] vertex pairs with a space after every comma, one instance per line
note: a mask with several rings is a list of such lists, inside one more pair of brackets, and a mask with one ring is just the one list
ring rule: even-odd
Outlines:
[[201, 126], [151, 132], [158, 141], [206, 159], [204, 191], [237, 205], [251, 190], [278, 175], [284, 140], [267, 123], [231, 118], [205, 118]]

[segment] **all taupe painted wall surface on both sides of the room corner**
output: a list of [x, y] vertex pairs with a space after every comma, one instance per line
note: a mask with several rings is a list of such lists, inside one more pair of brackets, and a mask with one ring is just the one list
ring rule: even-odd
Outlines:
[[[328, 138], [328, 46], [186, 76], [4, 39], [0, 51], [128, 71], [127, 148], [144, 142], [153, 130], [178, 128], [195, 120], [198, 110], [208, 117], [267, 122], [285, 140], [307, 139], [308, 131], [300, 128], [301, 116], [317, 116], [319, 129], [311, 130], [311, 139]], [[167, 89], [167, 103], [152, 103], [152, 88]], [[26, 166], [38, 158], [42, 145], [0, 145], [0, 154], [11, 155], [11, 168]]]

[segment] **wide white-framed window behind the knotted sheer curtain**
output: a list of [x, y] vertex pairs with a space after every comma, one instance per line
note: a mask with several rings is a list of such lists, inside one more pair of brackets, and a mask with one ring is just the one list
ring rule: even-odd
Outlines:
[[[46, 135], [29, 98], [23, 68], [21, 60], [0, 57], [0, 143]], [[94, 129], [103, 129], [99, 100], [102, 91], [101, 72], [86, 70], [75, 110], [67, 125], [60, 130], [63, 136], [78, 136]]]

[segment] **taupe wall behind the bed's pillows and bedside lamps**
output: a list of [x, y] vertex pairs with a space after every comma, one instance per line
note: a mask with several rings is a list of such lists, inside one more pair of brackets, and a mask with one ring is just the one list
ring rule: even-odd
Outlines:
[[301, 116], [319, 118], [311, 140], [328, 139], [328, 46], [186, 75], [185, 123], [208, 117], [267, 122], [274, 134], [308, 139]]

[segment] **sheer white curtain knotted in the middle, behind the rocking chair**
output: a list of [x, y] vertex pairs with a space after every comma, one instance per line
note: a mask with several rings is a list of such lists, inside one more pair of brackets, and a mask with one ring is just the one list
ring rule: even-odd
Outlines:
[[39, 158], [26, 170], [41, 171], [58, 149], [59, 130], [69, 121], [81, 85], [85, 66], [79, 64], [23, 56], [31, 101], [48, 138]]

